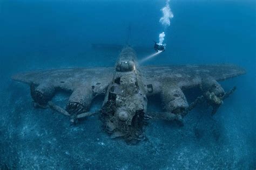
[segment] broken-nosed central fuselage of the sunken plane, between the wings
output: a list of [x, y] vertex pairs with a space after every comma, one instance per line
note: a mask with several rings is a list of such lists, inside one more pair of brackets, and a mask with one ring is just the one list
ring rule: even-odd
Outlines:
[[147, 97], [136, 54], [132, 48], [122, 50], [116, 72], [107, 88], [103, 103], [106, 130], [112, 137], [139, 134], [144, 123]]

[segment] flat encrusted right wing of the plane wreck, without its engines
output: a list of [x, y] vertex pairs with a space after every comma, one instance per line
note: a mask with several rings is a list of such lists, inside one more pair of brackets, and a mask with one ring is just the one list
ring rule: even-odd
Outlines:
[[236, 65], [180, 65], [180, 66], [144, 66], [143, 82], [159, 93], [165, 82], [173, 82], [179, 88], [198, 86], [204, 78], [212, 77], [216, 81], [245, 74], [245, 69]]

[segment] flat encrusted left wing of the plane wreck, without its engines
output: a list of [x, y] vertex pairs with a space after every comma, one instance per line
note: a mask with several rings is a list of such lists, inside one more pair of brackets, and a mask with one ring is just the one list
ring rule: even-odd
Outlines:
[[73, 91], [83, 86], [106, 88], [112, 80], [113, 71], [113, 67], [36, 70], [18, 73], [12, 79], [27, 84], [48, 83], [55, 88]]

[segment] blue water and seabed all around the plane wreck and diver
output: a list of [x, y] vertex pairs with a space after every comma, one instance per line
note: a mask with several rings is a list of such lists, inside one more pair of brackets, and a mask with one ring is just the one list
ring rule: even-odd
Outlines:
[[[35, 109], [28, 86], [10, 79], [33, 69], [113, 66], [119, 51], [92, 43], [142, 46], [164, 31], [165, 1], [0, 1], [0, 169], [255, 169], [255, 1], [177, 1], [165, 30], [166, 52], [143, 65], [234, 63], [247, 74], [221, 82], [237, 91], [213, 117], [197, 108], [185, 126], [156, 121], [147, 141], [127, 145], [102, 132], [92, 116], [77, 126], [49, 109]], [[68, 94], [54, 100], [63, 104]], [[152, 99], [151, 110], [161, 103]], [[92, 105], [100, 108], [102, 98]], [[200, 137], [195, 137], [194, 128]]]

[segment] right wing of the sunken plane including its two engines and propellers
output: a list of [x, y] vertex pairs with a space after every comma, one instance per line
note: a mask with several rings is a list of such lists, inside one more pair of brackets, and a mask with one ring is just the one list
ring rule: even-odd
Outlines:
[[[245, 70], [235, 65], [183, 65], [142, 67], [143, 82], [147, 95], [160, 94], [165, 109], [176, 115], [185, 116], [198, 103], [207, 102], [212, 115], [223, 100], [230, 96], [235, 87], [225, 92], [217, 81], [245, 74]], [[199, 87], [203, 95], [188, 104], [183, 89]]]

